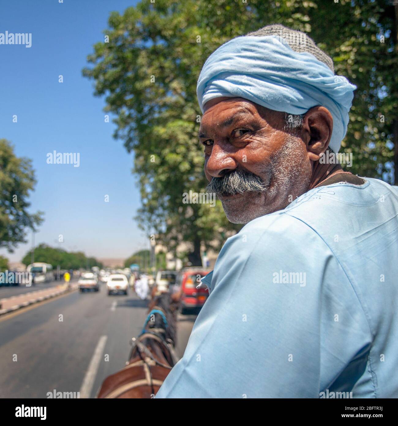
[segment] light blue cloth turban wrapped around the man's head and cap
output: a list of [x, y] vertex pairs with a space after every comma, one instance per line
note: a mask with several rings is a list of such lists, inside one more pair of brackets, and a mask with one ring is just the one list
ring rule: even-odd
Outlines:
[[207, 58], [199, 75], [200, 109], [221, 96], [239, 97], [275, 111], [304, 114], [321, 105], [333, 117], [329, 147], [337, 153], [347, 131], [356, 86], [334, 75], [308, 52], [295, 52], [278, 35], [236, 37]]

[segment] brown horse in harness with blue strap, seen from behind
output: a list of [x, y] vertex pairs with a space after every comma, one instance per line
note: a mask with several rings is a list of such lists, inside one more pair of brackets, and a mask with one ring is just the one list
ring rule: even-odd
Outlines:
[[98, 398], [153, 398], [177, 363], [176, 317], [179, 295], [160, 294], [149, 304], [143, 331], [132, 339], [126, 367], [103, 381]]

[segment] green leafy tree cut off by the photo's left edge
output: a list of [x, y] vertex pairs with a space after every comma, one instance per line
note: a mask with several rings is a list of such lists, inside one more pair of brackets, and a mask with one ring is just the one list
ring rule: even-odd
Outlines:
[[26, 229], [35, 230], [42, 222], [41, 212], [28, 212], [29, 191], [36, 180], [31, 161], [18, 158], [6, 139], [0, 139], [0, 247], [9, 252], [26, 242]]

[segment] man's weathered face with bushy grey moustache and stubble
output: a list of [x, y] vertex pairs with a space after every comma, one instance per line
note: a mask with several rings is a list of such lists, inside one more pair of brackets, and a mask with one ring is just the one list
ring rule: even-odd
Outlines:
[[281, 210], [309, 187], [306, 146], [284, 127], [284, 112], [242, 98], [206, 103], [199, 138], [207, 190], [218, 195], [230, 222]]

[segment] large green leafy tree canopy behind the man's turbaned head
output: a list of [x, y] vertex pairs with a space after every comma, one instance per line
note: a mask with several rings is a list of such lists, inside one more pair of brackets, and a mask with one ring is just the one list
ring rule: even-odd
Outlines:
[[218, 248], [221, 233], [239, 228], [226, 221], [219, 201], [182, 202], [183, 193], [206, 186], [196, 83], [218, 46], [271, 23], [309, 33], [336, 73], [358, 86], [342, 151], [353, 153], [353, 173], [390, 178], [398, 106], [392, 8], [387, 0], [145, 0], [112, 12], [109, 40], [95, 44], [83, 75], [95, 80], [95, 95], [106, 95], [115, 138], [135, 153], [140, 225], [171, 250], [190, 242], [193, 264], [200, 264], [201, 245]]

